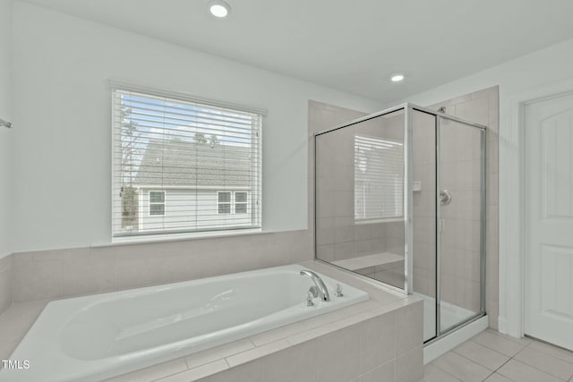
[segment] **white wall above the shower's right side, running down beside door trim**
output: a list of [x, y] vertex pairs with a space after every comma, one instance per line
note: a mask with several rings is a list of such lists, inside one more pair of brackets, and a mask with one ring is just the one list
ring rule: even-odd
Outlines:
[[[407, 101], [419, 105], [433, 105], [444, 99], [456, 98], [460, 95], [474, 92], [478, 89], [500, 86], [500, 206], [509, 204], [505, 199], [512, 194], [512, 186], [509, 185], [513, 174], [508, 164], [504, 161], [504, 155], [516, 149], [515, 141], [508, 133], [511, 122], [510, 101], [518, 94], [535, 89], [543, 85], [558, 83], [573, 78], [573, 39], [560, 44], [546, 47], [529, 55], [524, 55], [505, 64], [492, 67], [483, 72], [453, 81], [439, 88], [431, 89], [413, 97]], [[404, 102], [406, 100], [400, 100]], [[506, 264], [510, 251], [507, 244], [508, 237], [513, 233], [512, 227], [504, 225], [504, 208], [500, 208], [500, 330], [504, 330], [504, 322], [508, 315], [508, 304], [511, 296], [509, 290], [509, 277], [515, 269], [509, 269]], [[518, 314], [518, 313], [517, 313]]]

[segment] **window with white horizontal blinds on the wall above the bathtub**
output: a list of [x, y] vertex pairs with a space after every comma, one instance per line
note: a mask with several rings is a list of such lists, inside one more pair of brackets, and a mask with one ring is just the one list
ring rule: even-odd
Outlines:
[[112, 89], [113, 236], [260, 228], [261, 123], [243, 107]]

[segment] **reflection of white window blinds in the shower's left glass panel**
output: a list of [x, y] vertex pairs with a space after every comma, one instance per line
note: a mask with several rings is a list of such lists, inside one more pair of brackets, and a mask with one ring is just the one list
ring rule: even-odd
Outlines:
[[403, 215], [404, 145], [355, 136], [355, 220]]

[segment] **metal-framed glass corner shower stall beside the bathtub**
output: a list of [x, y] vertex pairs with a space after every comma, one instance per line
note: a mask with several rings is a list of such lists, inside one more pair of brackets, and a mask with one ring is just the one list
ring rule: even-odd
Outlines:
[[316, 259], [423, 297], [426, 343], [485, 314], [485, 129], [406, 104], [314, 136]]

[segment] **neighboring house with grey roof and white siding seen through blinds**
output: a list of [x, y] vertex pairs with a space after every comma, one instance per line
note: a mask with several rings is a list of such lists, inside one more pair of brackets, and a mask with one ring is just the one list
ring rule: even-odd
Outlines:
[[247, 147], [150, 140], [133, 179], [124, 185], [137, 205], [132, 225], [124, 228], [189, 232], [256, 225], [251, 161]]

